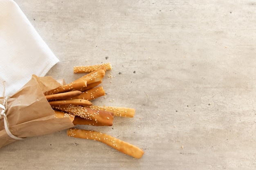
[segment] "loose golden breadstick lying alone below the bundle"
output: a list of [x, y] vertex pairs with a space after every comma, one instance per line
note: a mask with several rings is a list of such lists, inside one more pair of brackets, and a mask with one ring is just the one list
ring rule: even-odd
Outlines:
[[144, 154], [144, 151], [138, 148], [137, 146], [126, 143], [115, 137], [112, 137], [101, 132], [70, 128], [69, 130], [67, 130], [67, 135], [70, 137], [100, 141], [118, 150], [119, 152], [122, 152], [126, 155], [130, 155], [131, 157], [137, 159], [141, 158], [142, 155]]

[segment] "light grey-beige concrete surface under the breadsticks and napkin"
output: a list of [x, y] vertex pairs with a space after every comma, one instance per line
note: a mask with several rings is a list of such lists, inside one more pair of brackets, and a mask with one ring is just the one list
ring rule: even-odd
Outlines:
[[[16, 0], [59, 58], [47, 75], [110, 62], [94, 104], [125, 106], [99, 130], [145, 151], [133, 159], [65, 131], [0, 150], [0, 169], [255, 170], [256, 2]], [[109, 78], [108, 75], [113, 78]]]

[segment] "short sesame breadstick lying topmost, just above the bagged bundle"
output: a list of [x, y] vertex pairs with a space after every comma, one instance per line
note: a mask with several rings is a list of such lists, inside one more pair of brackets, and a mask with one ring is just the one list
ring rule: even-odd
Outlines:
[[90, 73], [92, 71], [95, 71], [101, 68], [102, 66], [105, 66], [106, 70], [112, 69], [111, 64], [108, 62], [104, 64], [90, 65], [90, 66], [74, 66], [74, 73]]

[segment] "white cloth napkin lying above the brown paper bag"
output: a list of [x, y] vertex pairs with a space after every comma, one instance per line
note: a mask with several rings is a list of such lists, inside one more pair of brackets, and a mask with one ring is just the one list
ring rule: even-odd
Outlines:
[[13, 95], [32, 74], [45, 76], [59, 62], [13, 0], [0, 0], [0, 97]]

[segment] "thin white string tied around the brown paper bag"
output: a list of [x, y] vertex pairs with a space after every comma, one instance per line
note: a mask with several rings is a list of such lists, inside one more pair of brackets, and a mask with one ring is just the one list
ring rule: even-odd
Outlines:
[[[5, 87], [4, 87], [4, 90], [5, 90]], [[0, 114], [0, 118], [4, 117], [4, 129], [5, 129], [6, 133], [7, 133], [7, 135], [9, 135], [9, 137], [11, 137], [13, 139], [16, 139], [16, 140], [22, 140], [24, 138], [20, 138], [20, 137], [14, 136], [11, 133], [10, 129], [9, 129], [9, 124], [8, 124], [8, 121], [7, 121], [7, 116], [5, 114], [5, 110], [7, 110], [7, 97], [4, 97], [4, 92], [3, 92], [3, 98], [4, 98], [4, 102], [3, 102], [3, 104], [0, 104], [0, 108], [2, 108], [2, 112]]]

